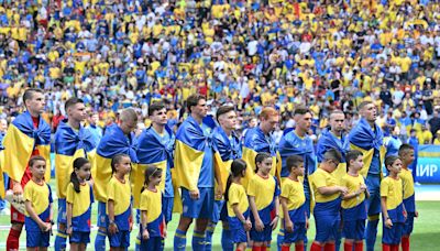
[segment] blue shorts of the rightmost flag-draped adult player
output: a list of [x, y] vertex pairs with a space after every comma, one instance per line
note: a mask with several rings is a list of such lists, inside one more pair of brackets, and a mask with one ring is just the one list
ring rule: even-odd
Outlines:
[[370, 198], [365, 200], [367, 215], [378, 215], [381, 212], [381, 176], [369, 174], [365, 178], [365, 185], [370, 192]]

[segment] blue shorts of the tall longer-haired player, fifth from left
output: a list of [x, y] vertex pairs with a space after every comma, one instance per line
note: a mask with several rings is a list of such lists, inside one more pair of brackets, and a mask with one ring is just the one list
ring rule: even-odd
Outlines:
[[191, 199], [189, 190], [182, 187], [183, 216], [193, 219], [211, 219], [213, 210], [213, 188], [199, 188], [199, 199]]

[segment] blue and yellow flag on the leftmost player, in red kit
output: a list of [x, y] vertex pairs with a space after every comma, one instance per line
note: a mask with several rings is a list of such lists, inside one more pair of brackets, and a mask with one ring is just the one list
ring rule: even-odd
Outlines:
[[43, 118], [38, 118], [38, 127], [34, 128], [28, 111], [18, 116], [8, 128], [3, 145], [3, 170], [10, 178], [21, 181], [29, 159], [36, 149], [40, 155], [46, 159], [45, 181], [51, 179], [51, 127]]

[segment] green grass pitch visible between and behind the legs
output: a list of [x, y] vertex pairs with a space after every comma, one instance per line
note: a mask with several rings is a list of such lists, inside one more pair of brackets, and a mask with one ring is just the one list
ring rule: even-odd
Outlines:
[[[54, 208], [56, 207], [56, 203], [54, 204]], [[438, 250], [440, 247], [440, 201], [417, 201], [417, 208], [419, 210], [419, 218], [415, 220], [415, 231], [411, 237], [411, 250]], [[54, 211], [56, 214], [56, 210]], [[92, 222], [96, 220], [96, 208], [94, 208], [92, 211]], [[0, 216], [0, 249], [4, 249], [6, 247], [6, 240], [8, 237], [8, 226], [9, 226], [9, 216]], [[173, 216], [173, 221], [168, 226], [168, 238], [165, 240], [165, 249], [166, 250], [172, 250], [173, 249], [173, 237], [174, 237], [174, 230], [177, 227], [178, 222], [178, 215]], [[56, 232], [56, 231], [54, 231]], [[187, 243], [190, 244], [191, 242], [191, 230], [188, 231], [187, 236]], [[130, 250], [134, 250], [134, 240], [135, 236], [138, 233], [138, 228], [133, 230], [131, 234], [131, 243], [132, 245], [130, 247]], [[276, 233], [277, 231], [274, 231], [273, 233], [273, 248], [272, 250], [276, 250], [275, 247], [275, 241], [276, 241]], [[96, 231], [91, 232], [91, 241], [95, 240], [95, 234]], [[221, 226], [219, 225], [216, 229], [215, 236], [213, 236], [213, 247], [212, 250], [221, 250], [220, 245], [220, 234], [221, 234]], [[315, 222], [310, 221], [310, 229], [308, 231], [309, 239], [312, 239], [315, 237]], [[378, 229], [378, 236], [377, 236], [377, 241], [376, 241], [376, 249], [375, 250], [381, 250], [381, 236], [382, 236], [382, 225]], [[55, 240], [55, 237], [51, 238], [51, 243], [53, 243]], [[23, 248], [25, 247], [25, 236], [23, 234], [20, 241], [20, 247]], [[94, 250], [92, 245], [88, 247], [88, 250]], [[188, 248], [188, 250], [190, 250]]]

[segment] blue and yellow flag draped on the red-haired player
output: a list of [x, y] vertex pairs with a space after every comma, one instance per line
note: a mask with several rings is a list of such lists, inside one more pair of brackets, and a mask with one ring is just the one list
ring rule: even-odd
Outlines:
[[255, 157], [256, 154], [261, 152], [271, 154], [273, 159], [271, 175], [279, 178], [282, 161], [276, 150], [276, 144], [272, 140], [271, 135], [265, 135], [260, 127], [255, 127], [250, 129], [244, 137], [242, 159], [248, 164], [246, 176], [242, 181], [244, 187], [248, 186], [248, 182], [255, 174]]

